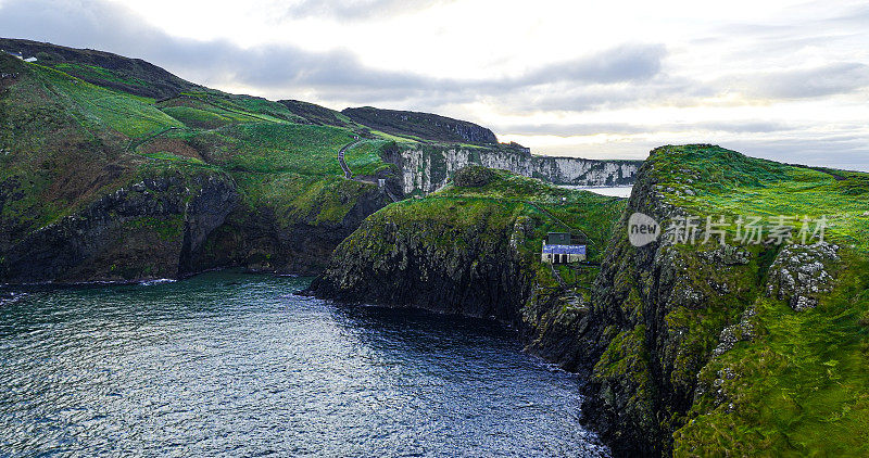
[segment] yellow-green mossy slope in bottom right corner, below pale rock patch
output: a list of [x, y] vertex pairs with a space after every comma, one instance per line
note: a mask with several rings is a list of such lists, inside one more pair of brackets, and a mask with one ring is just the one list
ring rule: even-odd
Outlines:
[[833, 455], [869, 453], [869, 264], [845, 255], [833, 293], [818, 307], [795, 313], [760, 297], [754, 304], [764, 333], [701, 372], [721, 379], [725, 400], [709, 393], [692, 408], [676, 434], [680, 455], [732, 447], [740, 455]]

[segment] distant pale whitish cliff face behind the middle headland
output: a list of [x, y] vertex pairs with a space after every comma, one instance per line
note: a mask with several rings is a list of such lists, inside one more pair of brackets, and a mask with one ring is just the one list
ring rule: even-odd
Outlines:
[[471, 164], [572, 186], [631, 185], [642, 164], [641, 161], [538, 156], [509, 148], [429, 145], [401, 148], [387, 160], [401, 167], [404, 192], [408, 194], [437, 191], [456, 170]]

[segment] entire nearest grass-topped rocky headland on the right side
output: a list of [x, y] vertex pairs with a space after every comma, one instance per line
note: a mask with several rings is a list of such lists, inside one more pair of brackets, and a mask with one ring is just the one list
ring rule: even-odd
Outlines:
[[[836, 176], [710, 145], [653, 151], [608, 247], [583, 330], [592, 368], [589, 420], [616, 451], [865, 450], [846, 431], [865, 424], [865, 407], [852, 408], [866, 390], [845, 394], [840, 383], [866, 380], [859, 317], [869, 291], [857, 279], [867, 271], [860, 221], [867, 204], [858, 202], [869, 186], [865, 174]], [[628, 238], [634, 212], [673, 225], [696, 218], [698, 227], [694, 238], [680, 240], [677, 229], [676, 238], [637, 247]], [[766, 236], [746, 240], [746, 221], [755, 218], [748, 215], [758, 214]], [[840, 222], [820, 240], [817, 221], [832, 214]], [[706, 217], [729, 222], [709, 226]], [[813, 228], [801, 234], [809, 219]], [[779, 227], [788, 228], [784, 241], [773, 236]], [[726, 230], [725, 242], [716, 228]], [[703, 243], [707, 236], [711, 242]], [[842, 409], [848, 416], [831, 414]]]

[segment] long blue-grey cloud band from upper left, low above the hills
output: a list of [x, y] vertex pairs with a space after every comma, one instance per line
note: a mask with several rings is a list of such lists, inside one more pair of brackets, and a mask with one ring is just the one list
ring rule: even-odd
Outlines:
[[[414, 4], [417, 3], [423, 4]], [[350, 14], [352, 9], [368, 11], [368, 7], [388, 8], [391, 1], [366, 1], [353, 3], [352, 7], [338, 4], [331, 2], [317, 8]], [[314, 8], [307, 2], [292, 8], [308, 8], [305, 5]], [[138, 56], [194, 82], [252, 87], [274, 98], [293, 98], [300, 92], [313, 92], [319, 100], [364, 104], [412, 102], [417, 109], [468, 103], [483, 97], [508, 97], [534, 87], [545, 92], [547, 87], [555, 84], [579, 87], [644, 81], [660, 72], [662, 59], [666, 55], [660, 44], [622, 44], [515, 76], [491, 79], [439, 78], [368, 67], [347, 50], [311, 52], [281, 44], [242, 49], [225, 40], [197, 41], [172, 37], [144, 24], [123, 5], [102, 1], [35, 0], [4, 3], [0, 29], [16, 38]], [[628, 93], [622, 90], [619, 92], [620, 96]], [[613, 98], [617, 94], [610, 92], [602, 96]], [[588, 104], [602, 101], [599, 98]]]

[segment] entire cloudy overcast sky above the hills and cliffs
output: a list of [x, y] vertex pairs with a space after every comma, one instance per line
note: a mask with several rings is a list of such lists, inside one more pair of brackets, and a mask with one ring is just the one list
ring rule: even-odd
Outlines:
[[436, 112], [537, 153], [703, 142], [869, 170], [866, 1], [0, 0], [0, 36], [273, 100]]

